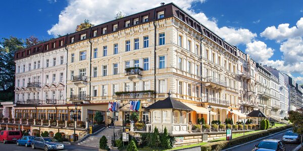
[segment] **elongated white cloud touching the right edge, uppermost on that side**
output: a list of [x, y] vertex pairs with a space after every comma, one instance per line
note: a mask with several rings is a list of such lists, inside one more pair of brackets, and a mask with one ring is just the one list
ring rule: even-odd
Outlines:
[[289, 28], [289, 24], [280, 24], [278, 28], [275, 26], [267, 27], [261, 34], [270, 40], [280, 42], [282, 40], [303, 36], [303, 18], [297, 21], [296, 26]]

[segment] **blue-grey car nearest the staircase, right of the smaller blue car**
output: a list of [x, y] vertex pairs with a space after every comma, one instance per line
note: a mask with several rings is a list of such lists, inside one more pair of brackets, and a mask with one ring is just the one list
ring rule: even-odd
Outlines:
[[42, 148], [45, 151], [52, 149], [64, 149], [64, 144], [53, 137], [36, 137], [32, 140], [32, 148]]

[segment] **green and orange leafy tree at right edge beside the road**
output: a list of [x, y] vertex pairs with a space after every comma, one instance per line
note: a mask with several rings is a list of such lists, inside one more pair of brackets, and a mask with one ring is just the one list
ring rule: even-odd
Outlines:
[[301, 144], [302, 144], [302, 134], [303, 134], [303, 113], [298, 111], [289, 111], [288, 120], [293, 124], [293, 132], [301, 134]]

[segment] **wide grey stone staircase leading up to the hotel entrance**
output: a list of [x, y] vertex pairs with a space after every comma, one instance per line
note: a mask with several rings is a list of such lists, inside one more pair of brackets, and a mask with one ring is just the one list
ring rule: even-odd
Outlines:
[[[115, 126], [115, 133], [117, 134], [119, 131], [123, 131], [123, 127], [120, 126]], [[102, 136], [106, 136], [108, 139], [108, 146], [110, 147], [112, 145], [112, 136], [114, 135], [114, 128], [105, 128], [101, 131], [99, 131], [96, 134], [90, 135], [86, 137], [85, 139], [81, 140], [81, 142], [78, 142], [78, 145], [83, 145], [83, 146], [90, 146], [90, 147], [99, 147], [99, 140]]]

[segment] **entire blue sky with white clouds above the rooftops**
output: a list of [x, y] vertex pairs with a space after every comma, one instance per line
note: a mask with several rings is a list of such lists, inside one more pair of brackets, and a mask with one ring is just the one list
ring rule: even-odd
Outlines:
[[73, 33], [88, 19], [98, 25], [121, 11], [134, 14], [175, 3], [259, 63], [303, 83], [303, 2], [281, 0], [10, 0], [0, 5], [0, 37], [40, 40]]

